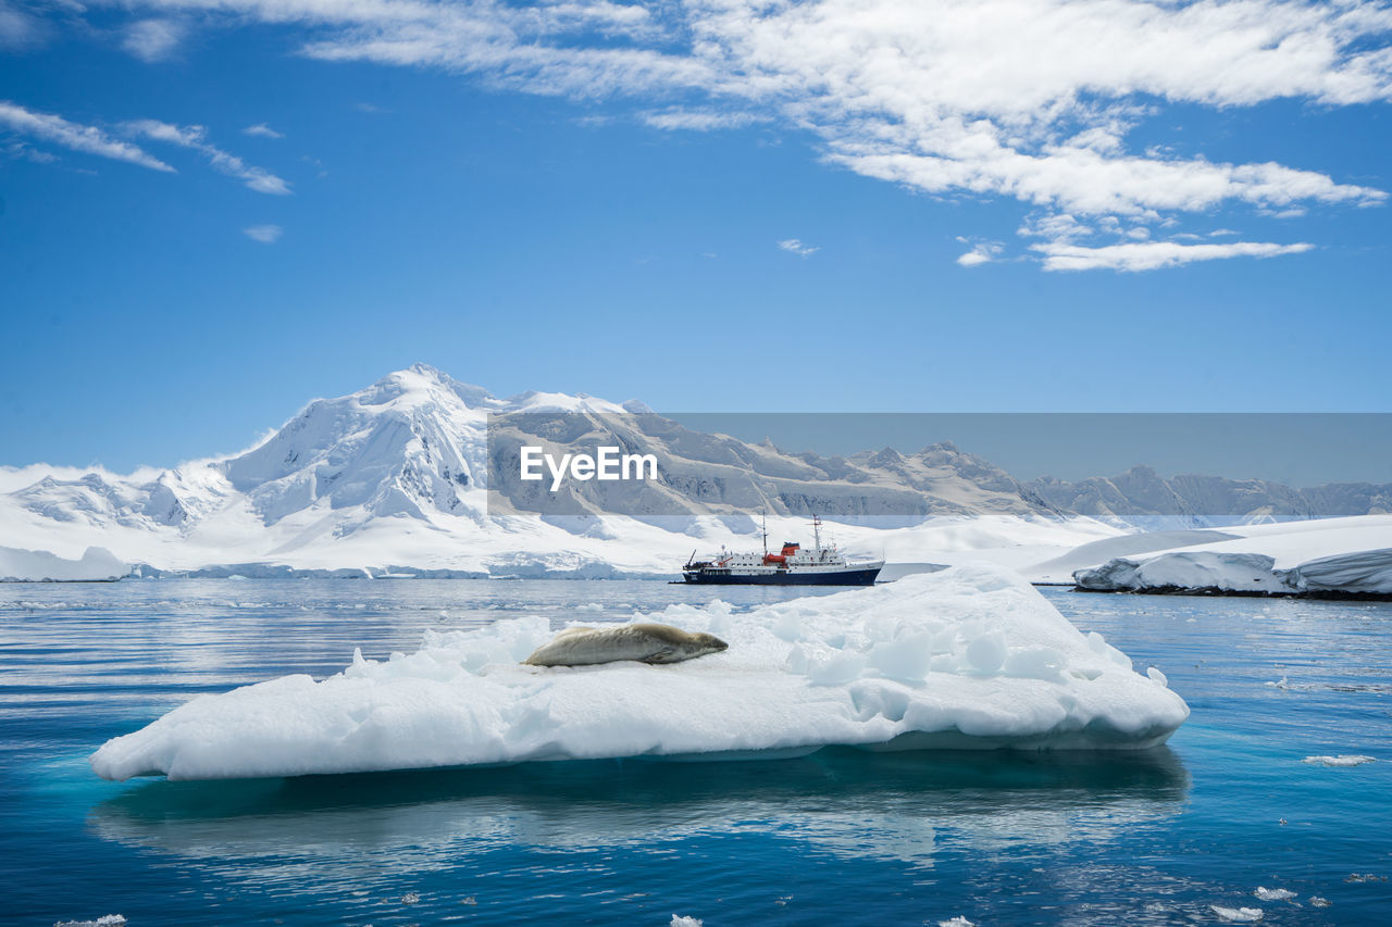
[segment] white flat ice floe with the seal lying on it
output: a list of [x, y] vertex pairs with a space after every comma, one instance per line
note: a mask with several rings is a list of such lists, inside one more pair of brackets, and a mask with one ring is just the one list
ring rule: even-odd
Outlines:
[[714, 633], [729, 649], [671, 665], [530, 667], [521, 661], [553, 635], [543, 617], [427, 631], [413, 654], [355, 653], [319, 682], [199, 696], [109, 740], [90, 764], [107, 779], [219, 779], [824, 746], [1143, 749], [1189, 715], [1162, 674], [1134, 672], [995, 566], [633, 621]]

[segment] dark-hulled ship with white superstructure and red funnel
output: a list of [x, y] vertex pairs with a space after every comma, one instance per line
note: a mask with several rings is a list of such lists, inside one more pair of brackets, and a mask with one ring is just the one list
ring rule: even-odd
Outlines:
[[873, 586], [884, 561], [851, 564], [835, 544], [821, 546], [821, 519], [812, 519], [813, 547], [785, 541], [777, 554], [768, 553], [768, 526], [764, 525], [764, 553], [735, 554], [721, 548], [710, 560], [696, 560], [692, 551], [682, 566], [689, 583], [722, 586]]

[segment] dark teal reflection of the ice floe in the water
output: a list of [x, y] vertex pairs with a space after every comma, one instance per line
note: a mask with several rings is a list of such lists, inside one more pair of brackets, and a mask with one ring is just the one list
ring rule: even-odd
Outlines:
[[[1168, 747], [1105, 753], [823, 750], [767, 763], [533, 763], [493, 770], [139, 785], [90, 813], [104, 839], [205, 863], [331, 862], [342, 877], [458, 864], [500, 846], [660, 848], [760, 832], [931, 866], [977, 850], [1107, 842], [1179, 813]], [[290, 871], [284, 873], [290, 876]]]

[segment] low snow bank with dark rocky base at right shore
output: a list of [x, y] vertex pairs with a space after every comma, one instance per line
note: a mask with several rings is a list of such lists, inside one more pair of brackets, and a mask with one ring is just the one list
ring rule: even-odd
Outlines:
[[1392, 516], [1250, 526], [1246, 536], [1079, 569], [1093, 592], [1392, 597]]

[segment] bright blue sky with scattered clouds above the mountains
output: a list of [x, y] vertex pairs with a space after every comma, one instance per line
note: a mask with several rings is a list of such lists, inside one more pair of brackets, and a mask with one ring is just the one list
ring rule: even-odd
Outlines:
[[232, 452], [416, 362], [658, 411], [1388, 412], [1389, 33], [0, 0], [0, 465]]

